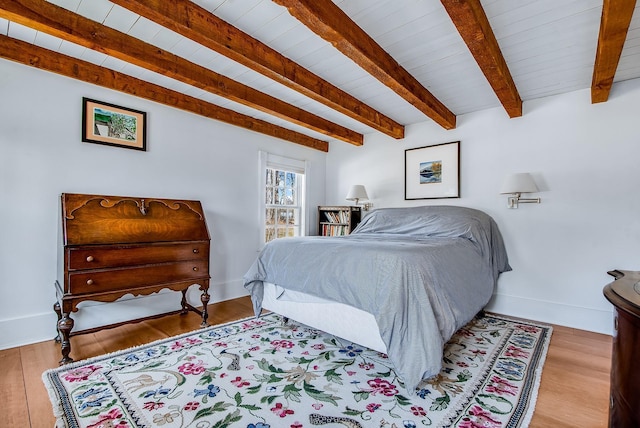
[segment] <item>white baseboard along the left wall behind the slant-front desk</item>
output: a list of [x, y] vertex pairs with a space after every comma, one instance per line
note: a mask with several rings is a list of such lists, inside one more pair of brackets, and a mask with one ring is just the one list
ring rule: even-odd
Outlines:
[[[209, 303], [246, 296], [247, 291], [238, 285], [239, 283], [241, 282], [211, 284]], [[73, 331], [175, 311], [180, 309], [180, 299], [180, 292], [163, 290], [150, 296], [124, 296], [113, 303], [82, 302], [78, 305], [78, 312], [72, 313], [71, 316], [75, 323]], [[187, 300], [193, 306], [202, 306], [198, 287], [189, 289]], [[89, 307], [90, 311], [82, 310]], [[53, 311], [53, 304], [52, 309], [47, 312], [0, 320], [0, 331], [3, 332], [0, 335], [0, 350], [53, 340], [57, 335], [56, 323], [57, 316]]]

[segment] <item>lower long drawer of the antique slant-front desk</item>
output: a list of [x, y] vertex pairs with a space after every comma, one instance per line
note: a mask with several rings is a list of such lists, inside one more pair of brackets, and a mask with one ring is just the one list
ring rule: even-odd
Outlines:
[[208, 280], [208, 261], [195, 260], [122, 269], [80, 271], [69, 274], [71, 294], [103, 293], [181, 281]]

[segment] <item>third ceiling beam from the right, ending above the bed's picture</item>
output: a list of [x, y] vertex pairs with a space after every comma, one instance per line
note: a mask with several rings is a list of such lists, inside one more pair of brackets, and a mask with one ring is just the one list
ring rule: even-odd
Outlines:
[[443, 128], [455, 128], [456, 116], [332, 1], [273, 1]]

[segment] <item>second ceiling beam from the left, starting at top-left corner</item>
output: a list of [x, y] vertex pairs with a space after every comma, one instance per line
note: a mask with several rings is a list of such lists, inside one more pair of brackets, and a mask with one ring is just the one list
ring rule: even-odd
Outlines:
[[0, 0], [0, 18], [103, 52], [329, 137], [362, 145], [362, 134], [45, 0]]

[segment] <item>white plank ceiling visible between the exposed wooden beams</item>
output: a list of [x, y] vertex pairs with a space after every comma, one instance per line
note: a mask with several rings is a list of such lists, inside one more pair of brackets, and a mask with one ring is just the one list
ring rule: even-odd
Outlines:
[[[108, 0], [49, 1], [354, 131], [377, 132]], [[430, 120], [271, 0], [194, 3], [401, 124]], [[454, 114], [501, 107], [439, 0], [334, 0], [334, 3]], [[523, 101], [591, 86], [602, 0], [482, 0], [481, 3]], [[614, 82], [640, 77], [639, 8], [637, 5]], [[327, 139], [325, 135], [13, 22], [0, 19], [0, 34]]]

